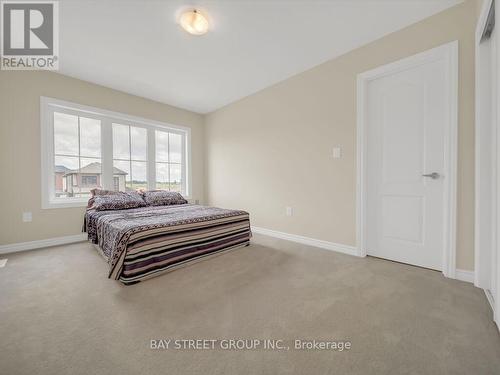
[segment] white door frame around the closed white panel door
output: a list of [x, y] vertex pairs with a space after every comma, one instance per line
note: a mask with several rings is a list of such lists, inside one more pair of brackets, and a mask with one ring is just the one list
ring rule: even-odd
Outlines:
[[[444, 145], [444, 205], [443, 205], [443, 268], [444, 276], [455, 278], [456, 271], [456, 211], [457, 211], [457, 133], [458, 133], [458, 41], [398, 60], [358, 74], [357, 77], [357, 186], [356, 243], [358, 255], [366, 251], [367, 204], [367, 86], [370, 81], [419, 65], [445, 59], [450, 97], [447, 100], [449, 122], [445, 127]], [[448, 177], [449, 178], [446, 178]]]

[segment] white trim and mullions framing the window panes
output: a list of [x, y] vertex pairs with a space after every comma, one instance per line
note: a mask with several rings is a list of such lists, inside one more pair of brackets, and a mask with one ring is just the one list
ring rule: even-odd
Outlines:
[[[108, 111], [105, 109], [85, 106], [77, 103], [67, 102], [60, 99], [41, 96], [40, 97], [40, 124], [41, 124], [41, 183], [42, 183], [42, 208], [66, 208], [66, 207], [85, 207], [87, 205], [87, 198], [54, 198], [54, 129], [50, 114], [53, 109], [58, 109], [64, 112], [77, 111], [80, 114], [83, 112], [90, 117], [98, 116], [104, 123], [101, 125], [101, 160], [103, 176], [108, 176], [106, 180], [103, 179], [103, 185], [113, 186], [113, 137], [111, 130], [111, 122], [119, 122], [123, 125], [140, 126], [147, 129], [165, 130], [171, 133], [178, 133], [184, 135], [185, 145], [187, 152], [183, 155], [186, 158], [183, 176], [185, 175], [185, 198], [191, 198], [191, 129], [185, 126], [167, 124], [160, 121], [149, 120], [142, 117], [127, 115], [124, 113]], [[106, 126], [106, 122], [108, 126]], [[155, 142], [154, 137], [150, 134], [154, 133], [148, 131], [148, 186], [149, 189], [154, 189], [155, 186]], [[152, 139], [151, 139], [152, 138]], [[108, 145], [108, 147], [104, 146]], [[110, 146], [109, 146], [110, 145]], [[108, 172], [106, 174], [106, 171]], [[187, 173], [186, 173], [187, 172]], [[110, 181], [107, 181], [110, 180]]]

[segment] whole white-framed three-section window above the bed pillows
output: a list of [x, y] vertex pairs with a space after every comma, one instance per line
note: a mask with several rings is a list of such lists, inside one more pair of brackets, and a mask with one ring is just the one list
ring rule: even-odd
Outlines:
[[90, 191], [164, 189], [189, 197], [189, 129], [41, 98], [44, 208]]

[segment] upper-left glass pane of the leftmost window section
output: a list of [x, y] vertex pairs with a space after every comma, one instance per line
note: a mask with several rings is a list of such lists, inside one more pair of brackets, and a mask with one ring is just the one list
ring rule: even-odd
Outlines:
[[54, 112], [54, 152], [78, 156], [78, 117]]

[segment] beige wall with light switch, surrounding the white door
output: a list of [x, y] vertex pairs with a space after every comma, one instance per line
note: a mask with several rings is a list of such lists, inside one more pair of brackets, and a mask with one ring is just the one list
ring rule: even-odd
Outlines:
[[[457, 267], [472, 270], [477, 5], [467, 1], [208, 115], [208, 202], [246, 209], [256, 226], [355, 245], [356, 75], [458, 40]], [[331, 158], [335, 145], [341, 160]]]

